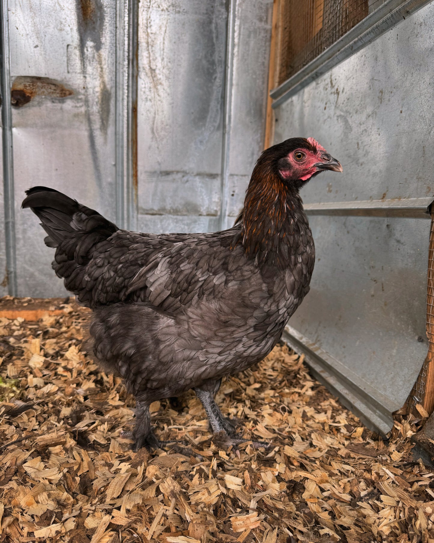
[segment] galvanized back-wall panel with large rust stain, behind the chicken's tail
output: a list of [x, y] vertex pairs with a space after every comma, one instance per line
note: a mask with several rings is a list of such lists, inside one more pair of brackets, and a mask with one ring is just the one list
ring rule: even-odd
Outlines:
[[10, 0], [9, 7], [12, 99], [35, 95], [12, 112], [18, 294], [62, 295], [53, 251], [20, 204], [25, 189], [47, 185], [116, 219], [116, 5]]

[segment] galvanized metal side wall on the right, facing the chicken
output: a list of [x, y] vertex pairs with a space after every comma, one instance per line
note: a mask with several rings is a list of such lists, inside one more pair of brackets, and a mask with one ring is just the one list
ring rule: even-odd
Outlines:
[[[276, 142], [314, 136], [344, 172], [321, 174], [303, 189], [318, 213], [310, 218], [317, 261], [311, 292], [290, 321], [293, 343], [301, 333], [316, 371], [329, 384], [337, 379], [331, 386], [348, 403], [359, 395], [356, 409], [383, 432], [427, 349], [430, 221], [397, 217], [395, 203], [434, 198], [426, 71], [434, 60], [433, 16], [434, 4], [427, 5], [275, 110]], [[395, 217], [319, 214], [326, 204], [352, 214], [348, 207], [359, 200], [380, 200]]]

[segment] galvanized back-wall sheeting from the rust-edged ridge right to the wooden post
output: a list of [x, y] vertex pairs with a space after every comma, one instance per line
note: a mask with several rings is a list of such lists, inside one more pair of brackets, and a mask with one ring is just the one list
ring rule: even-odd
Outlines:
[[[236, 3], [228, 119], [225, 2], [139, 4], [140, 230], [212, 231], [233, 223], [262, 150], [271, 6], [270, 0]], [[222, 174], [228, 174], [223, 220]]]

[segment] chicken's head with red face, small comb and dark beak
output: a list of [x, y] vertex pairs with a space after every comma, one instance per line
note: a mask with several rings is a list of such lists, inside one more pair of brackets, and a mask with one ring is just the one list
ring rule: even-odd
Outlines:
[[277, 173], [296, 188], [324, 170], [342, 172], [340, 163], [327, 153], [314, 138], [291, 138], [270, 148]]

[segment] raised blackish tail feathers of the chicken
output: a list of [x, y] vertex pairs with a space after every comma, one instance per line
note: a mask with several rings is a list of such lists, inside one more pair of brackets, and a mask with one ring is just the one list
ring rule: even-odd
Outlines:
[[48, 234], [44, 242], [56, 248], [53, 262], [56, 274], [65, 279], [68, 290], [78, 293], [84, 276], [82, 266], [89, 261], [92, 248], [119, 230], [118, 227], [54, 188], [33, 187], [26, 194], [22, 207], [29, 207], [41, 220]]

